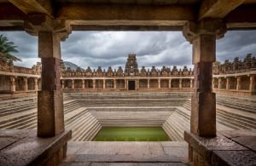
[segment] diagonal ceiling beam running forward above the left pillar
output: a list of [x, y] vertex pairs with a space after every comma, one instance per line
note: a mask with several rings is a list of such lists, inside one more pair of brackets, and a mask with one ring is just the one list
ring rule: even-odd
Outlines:
[[54, 15], [53, 1], [51, 0], [9, 0], [25, 14]]

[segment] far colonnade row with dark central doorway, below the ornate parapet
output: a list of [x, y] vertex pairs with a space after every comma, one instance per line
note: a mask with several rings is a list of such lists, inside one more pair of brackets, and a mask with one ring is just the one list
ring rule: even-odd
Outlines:
[[[134, 87], [131, 87], [131, 82]], [[193, 89], [194, 77], [65, 77], [61, 79], [61, 88], [72, 92], [98, 90], [160, 90], [160, 89]]]

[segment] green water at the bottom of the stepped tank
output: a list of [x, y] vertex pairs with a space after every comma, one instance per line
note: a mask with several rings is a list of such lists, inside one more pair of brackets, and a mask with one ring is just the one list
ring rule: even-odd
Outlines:
[[95, 141], [166, 141], [170, 140], [162, 128], [102, 127]]

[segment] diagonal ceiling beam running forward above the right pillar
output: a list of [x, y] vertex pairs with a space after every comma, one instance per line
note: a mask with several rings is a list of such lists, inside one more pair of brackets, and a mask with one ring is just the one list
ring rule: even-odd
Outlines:
[[198, 15], [198, 20], [204, 18], [222, 19], [232, 10], [236, 9], [245, 0], [207, 0], [202, 1]]

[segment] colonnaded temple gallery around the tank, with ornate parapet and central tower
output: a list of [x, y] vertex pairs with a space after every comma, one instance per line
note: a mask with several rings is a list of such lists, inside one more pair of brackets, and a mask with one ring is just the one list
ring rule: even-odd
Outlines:
[[[41, 63], [32, 68], [14, 66], [13, 63], [0, 62], [1, 94], [36, 94], [41, 89]], [[236, 57], [232, 62], [223, 64], [216, 61], [212, 70], [212, 89], [217, 94], [255, 95], [256, 94], [256, 59], [247, 54], [244, 60]], [[76, 71], [65, 67], [61, 62], [61, 88], [64, 92], [108, 92], [108, 91], [165, 91], [191, 92], [194, 86], [194, 69], [172, 69], [163, 66], [157, 69], [145, 66], [139, 70], [136, 54], [129, 54], [125, 71], [118, 69], [96, 70], [88, 67]]]

